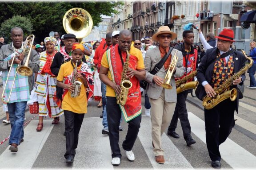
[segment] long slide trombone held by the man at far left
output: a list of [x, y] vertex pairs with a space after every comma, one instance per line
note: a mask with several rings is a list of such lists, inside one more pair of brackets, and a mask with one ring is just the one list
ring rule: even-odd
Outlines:
[[35, 39], [35, 35], [29, 35], [27, 37], [27, 39], [25, 40], [25, 44], [24, 44], [23, 49], [22, 49], [22, 54], [24, 54], [24, 55], [28, 54], [27, 55], [27, 60], [24, 64], [24, 66], [20, 66], [20, 64], [18, 64], [18, 66], [16, 68], [16, 73], [15, 73], [14, 78], [13, 78], [12, 88], [10, 89], [10, 94], [9, 94], [8, 100], [5, 101], [4, 92], [5, 92], [8, 80], [9, 80], [9, 75], [10, 75], [11, 70], [12, 70], [12, 65], [13, 65], [13, 61], [15, 59], [15, 56], [12, 58], [12, 63], [11, 63], [11, 66], [9, 68], [9, 72], [8, 72], [8, 75], [7, 75], [7, 78], [6, 78], [6, 81], [5, 81], [5, 85], [4, 85], [4, 89], [3, 89], [3, 93], [2, 93], [2, 96], [1, 96], [1, 99], [6, 103], [8, 103], [10, 98], [11, 98], [12, 89], [13, 89], [13, 85], [15, 83], [17, 73], [19, 73], [22, 76], [31, 76], [33, 74], [32, 69], [28, 67], [28, 61], [29, 61], [29, 57], [30, 57], [30, 53], [31, 53], [31, 49], [32, 49], [34, 39]]

